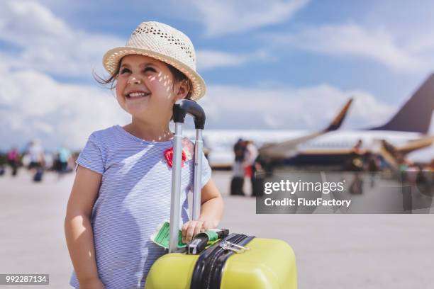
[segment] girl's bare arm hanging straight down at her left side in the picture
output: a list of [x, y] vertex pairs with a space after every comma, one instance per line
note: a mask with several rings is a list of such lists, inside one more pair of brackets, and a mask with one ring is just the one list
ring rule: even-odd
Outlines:
[[104, 288], [96, 268], [94, 232], [90, 217], [101, 174], [78, 166], [65, 217], [65, 236], [80, 288]]

